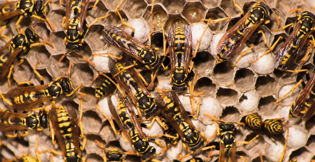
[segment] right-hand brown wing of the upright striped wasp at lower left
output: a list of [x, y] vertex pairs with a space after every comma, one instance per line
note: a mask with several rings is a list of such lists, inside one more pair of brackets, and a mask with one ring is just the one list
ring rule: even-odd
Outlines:
[[67, 104], [68, 114], [71, 122], [72, 140], [75, 148], [75, 152], [80, 155], [80, 143], [79, 143], [79, 121], [77, 118], [77, 112], [71, 104]]

